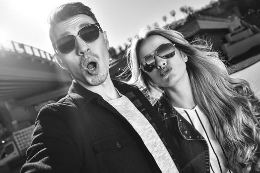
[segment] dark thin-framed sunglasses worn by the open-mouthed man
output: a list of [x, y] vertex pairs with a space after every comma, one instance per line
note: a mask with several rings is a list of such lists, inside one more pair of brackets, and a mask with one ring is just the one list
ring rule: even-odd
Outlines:
[[[99, 31], [103, 33], [99, 23], [94, 23], [81, 28], [77, 36], [79, 36], [84, 42], [91, 43], [99, 38]], [[67, 35], [54, 43], [54, 48], [62, 54], [66, 54], [74, 50], [76, 47], [76, 37], [73, 35]]]

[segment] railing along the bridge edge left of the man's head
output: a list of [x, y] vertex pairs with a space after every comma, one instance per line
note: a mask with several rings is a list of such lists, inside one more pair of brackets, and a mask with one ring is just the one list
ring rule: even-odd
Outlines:
[[2, 41], [0, 43], [0, 50], [5, 50], [5, 51], [11, 51], [15, 53], [20, 53], [20, 54], [28, 54], [36, 57], [40, 57], [52, 62], [56, 62], [55, 58], [53, 58], [53, 55], [41, 50], [39, 48], [26, 45], [23, 43], [17, 43], [14, 41]]

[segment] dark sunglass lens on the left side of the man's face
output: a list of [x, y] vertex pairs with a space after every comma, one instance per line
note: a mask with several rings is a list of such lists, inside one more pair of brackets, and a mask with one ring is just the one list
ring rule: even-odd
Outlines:
[[56, 42], [57, 49], [63, 53], [69, 53], [75, 48], [75, 39], [74, 36], [68, 35], [65, 37], [62, 37]]

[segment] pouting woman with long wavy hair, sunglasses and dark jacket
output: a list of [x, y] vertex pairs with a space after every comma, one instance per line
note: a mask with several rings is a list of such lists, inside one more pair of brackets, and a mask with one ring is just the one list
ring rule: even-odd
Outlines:
[[260, 172], [260, 101], [210, 49], [177, 31], [144, 29], [127, 50], [127, 83], [151, 101], [164, 91], [154, 107], [182, 153], [181, 172]]

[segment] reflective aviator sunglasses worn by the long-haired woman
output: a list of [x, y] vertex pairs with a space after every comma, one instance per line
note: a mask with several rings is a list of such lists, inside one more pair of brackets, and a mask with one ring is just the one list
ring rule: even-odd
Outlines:
[[155, 55], [164, 59], [168, 59], [174, 57], [175, 51], [176, 51], [175, 44], [172, 43], [162, 44], [156, 50], [153, 51], [154, 52], [153, 55], [151, 55], [153, 53], [152, 52], [141, 60], [140, 68], [145, 73], [151, 73], [155, 65]]

